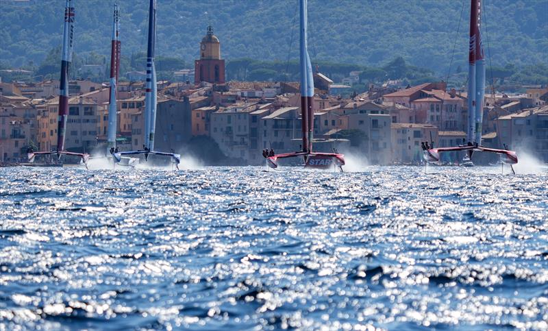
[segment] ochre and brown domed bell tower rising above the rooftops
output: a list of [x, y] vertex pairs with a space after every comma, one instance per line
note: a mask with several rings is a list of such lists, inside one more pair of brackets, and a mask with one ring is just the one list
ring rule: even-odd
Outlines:
[[200, 42], [200, 60], [194, 62], [194, 82], [225, 83], [225, 60], [221, 60], [221, 43], [208, 26], [208, 34]]

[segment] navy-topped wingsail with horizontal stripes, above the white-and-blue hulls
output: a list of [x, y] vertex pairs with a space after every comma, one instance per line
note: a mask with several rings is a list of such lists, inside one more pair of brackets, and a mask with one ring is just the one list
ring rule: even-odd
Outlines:
[[145, 93], [145, 147], [154, 149], [156, 125], [156, 70], [154, 67], [154, 46], [156, 29], [156, 1], [150, 0], [149, 42], [147, 49], [147, 87]]

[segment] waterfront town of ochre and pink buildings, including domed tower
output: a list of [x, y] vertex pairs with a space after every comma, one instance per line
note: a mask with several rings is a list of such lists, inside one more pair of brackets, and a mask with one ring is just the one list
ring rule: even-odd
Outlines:
[[[197, 42], [193, 69], [158, 81], [156, 146], [186, 154], [187, 148], [216, 145], [221, 164], [264, 164], [262, 152], [297, 151], [301, 144], [299, 82], [242, 82], [225, 79], [221, 41], [208, 27]], [[16, 69], [14, 69], [16, 70]], [[29, 73], [32, 75], [32, 73]], [[117, 136], [121, 151], [144, 144], [145, 73], [125, 73], [116, 86]], [[421, 142], [436, 147], [462, 144], [466, 138], [467, 93], [443, 81], [410, 86], [387, 77], [353, 92], [360, 72], [334, 82], [314, 70], [314, 148], [344, 151], [369, 164], [420, 164]], [[0, 80], [0, 162], [27, 162], [27, 149], [53, 151], [57, 143], [60, 82]], [[104, 153], [108, 127], [108, 82], [69, 82], [68, 151]], [[491, 90], [484, 100], [482, 140], [548, 162], [548, 87]], [[204, 145], [205, 146], [205, 145]], [[103, 148], [101, 148], [103, 147]], [[443, 162], [457, 163], [458, 152]], [[491, 162], [495, 159], [487, 159]], [[204, 160], [208, 163], [208, 160]], [[218, 162], [219, 163], [219, 162]]]

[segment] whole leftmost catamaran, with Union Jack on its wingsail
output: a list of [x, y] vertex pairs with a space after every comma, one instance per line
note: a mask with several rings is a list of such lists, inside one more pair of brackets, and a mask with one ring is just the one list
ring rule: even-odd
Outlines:
[[37, 155], [55, 154], [58, 160], [61, 156], [79, 156], [82, 162], [86, 164], [89, 158], [87, 153], [74, 153], [64, 149], [64, 138], [66, 134], [66, 119], [69, 117], [69, 66], [73, 56], [73, 37], [74, 37], [74, 7], [73, 0], [65, 1], [64, 26], [63, 26], [63, 54], [61, 61], [61, 79], [59, 93], [59, 120], [57, 128], [57, 149], [55, 151], [32, 151], [29, 150], [27, 156], [29, 162], [34, 162]]

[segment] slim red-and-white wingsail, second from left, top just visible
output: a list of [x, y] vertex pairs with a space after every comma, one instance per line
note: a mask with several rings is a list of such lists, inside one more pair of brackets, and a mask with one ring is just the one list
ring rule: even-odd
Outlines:
[[110, 45], [110, 100], [108, 103], [108, 147], [116, 148], [116, 84], [118, 83], [119, 73], [119, 13], [118, 5], [114, 3], [114, 20], [112, 22], [112, 42]]

